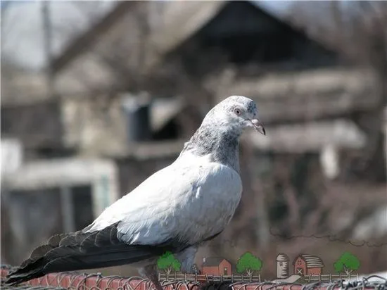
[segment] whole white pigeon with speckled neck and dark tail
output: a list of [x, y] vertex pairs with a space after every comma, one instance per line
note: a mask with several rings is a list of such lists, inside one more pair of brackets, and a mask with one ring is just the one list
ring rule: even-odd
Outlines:
[[239, 137], [248, 127], [265, 134], [255, 103], [244, 96], [224, 99], [205, 115], [171, 165], [115, 201], [91, 225], [51, 237], [5, 283], [132, 264], [162, 290], [156, 260], [166, 251], [190, 273], [198, 246], [223, 231], [241, 199]]

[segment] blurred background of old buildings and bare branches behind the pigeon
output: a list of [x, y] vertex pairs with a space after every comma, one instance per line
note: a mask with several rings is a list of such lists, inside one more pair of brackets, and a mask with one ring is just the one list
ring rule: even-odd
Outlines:
[[89, 225], [232, 94], [267, 136], [243, 135], [243, 198], [199, 267], [251, 251], [270, 279], [304, 253], [329, 273], [350, 251], [386, 271], [383, 1], [1, 1], [1, 263]]

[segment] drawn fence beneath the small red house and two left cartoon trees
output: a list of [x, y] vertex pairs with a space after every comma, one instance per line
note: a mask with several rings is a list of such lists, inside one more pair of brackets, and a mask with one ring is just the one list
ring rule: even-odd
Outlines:
[[158, 275], [160, 281], [194, 281], [194, 282], [261, 282], [260, 275], [247, 276], [247, 275], [230, 275], [230, 276], [215, 276], [215, 275], [197, 275], [197, 274], [177, 274], [171, 273], [166, 275], [160, 273]]

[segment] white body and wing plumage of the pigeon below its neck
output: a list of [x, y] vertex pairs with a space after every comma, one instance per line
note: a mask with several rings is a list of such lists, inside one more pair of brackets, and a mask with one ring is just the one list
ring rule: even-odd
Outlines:
[[186, 152], [106, 208], [88, 232], [120, 221], [119, 237], [128, 244], [179, 239], [194, 245], [222, 232], [241, 192], [234, 169]]

